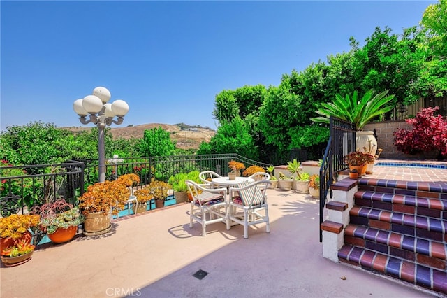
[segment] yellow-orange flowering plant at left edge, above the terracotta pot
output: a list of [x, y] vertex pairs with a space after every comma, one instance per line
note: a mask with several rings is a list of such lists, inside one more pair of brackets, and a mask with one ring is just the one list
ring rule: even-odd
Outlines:
[[0, 218], [0, 237], [19, 239], [31, 227], [39, 224], [41, 217], [31, 214], [13, 214]]

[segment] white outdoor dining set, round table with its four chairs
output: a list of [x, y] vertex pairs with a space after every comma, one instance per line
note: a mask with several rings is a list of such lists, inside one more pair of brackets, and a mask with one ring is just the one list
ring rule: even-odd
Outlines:
[[243, 225], [244, 238], [248, 238], [248, 227], [265, 222], [270, 232], [266, 190], [270, 185], [268, 173], [254, 173], [249, 177], [220, 176], [214, 171], [203, 171], [199, 175], [201, 184], [186, 180], [191, 194], [189, 227], [196, 221], [202, 225], [202, 236], [207, 225], [223, 222], [229, 230], [233, 225]]

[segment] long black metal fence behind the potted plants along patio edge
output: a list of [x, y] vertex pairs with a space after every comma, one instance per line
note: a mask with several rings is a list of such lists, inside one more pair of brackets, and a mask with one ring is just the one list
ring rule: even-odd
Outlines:
[[[108, 180], [135, 173], [140, 177], [142, 186], [153, 179], [168, 181], [176, 173], [190, 171], [211, 170], [228, 176], [228, 162], [231, 160], [242, 162], [246, 167], [270, 166], [237, 154], [220, 154], [115, 158], [107, 159], [105, 168]], [[98, 182], [98, 159], [53, 165], [2, 166], [0, 180], [0, 210], [3, 217], [13, 213], [28, 213], [33, 206], [56, 198], [78, 204], [78, 197], [87, 187]]]

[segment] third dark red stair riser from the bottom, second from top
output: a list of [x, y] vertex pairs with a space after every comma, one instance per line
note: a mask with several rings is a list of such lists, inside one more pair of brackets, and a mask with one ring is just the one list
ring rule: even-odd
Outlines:
[[[430, 204], [428, 202], [427, 204], [424, 204], [424, 206], [409, 206], [409, 205], [388, 203], [386, 201], [372, 201], [370, 199], [355, 198], [354, 203], [357, 206], [371, 207], [374, 209], [381, 209], [389, 212], [399, 212], [399, 213], [427, 216], [430, 218], [441, 218], [443, 220], [447, 220], [447, 210], [441, 211], [429, 208], [428, 206], [430, 206]], [[447, 205], [447, 202], [444, 205]]]

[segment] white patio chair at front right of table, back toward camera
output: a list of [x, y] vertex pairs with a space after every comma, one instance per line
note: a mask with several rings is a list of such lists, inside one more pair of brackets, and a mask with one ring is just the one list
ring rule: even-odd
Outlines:
[[248, 227], [265, 222], [265, 232], [270, 233], [268, 204], [265, 190], [271, 182], [268, 180], [250, 183], [244, 181], [237, 187], [230, 188], [228, 218], [230, 223], [237, 222], [244, 226], [244, 238], [249, 237]]

